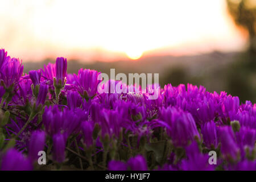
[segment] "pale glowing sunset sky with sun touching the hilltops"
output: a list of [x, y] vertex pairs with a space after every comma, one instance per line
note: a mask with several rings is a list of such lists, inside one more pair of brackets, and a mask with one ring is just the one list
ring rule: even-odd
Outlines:
[[23, 61], [240, 51], [225, 0], [0, 0], [0, 48]]

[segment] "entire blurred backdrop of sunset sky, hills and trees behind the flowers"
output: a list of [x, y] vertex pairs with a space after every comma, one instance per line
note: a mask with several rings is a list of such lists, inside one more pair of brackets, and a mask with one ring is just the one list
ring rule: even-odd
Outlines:
[[159, 73], [256, 102], [256, 1], [0, 0], [0, 48], [24, 71]]

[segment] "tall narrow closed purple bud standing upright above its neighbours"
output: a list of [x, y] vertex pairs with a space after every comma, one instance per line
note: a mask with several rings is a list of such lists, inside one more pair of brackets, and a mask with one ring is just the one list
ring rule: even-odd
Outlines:
[[64, 79], [67, 76], [67, 59], [64, 57], [57, 57], [56, 59], [56, 81], [57, 84], [64, 85]]

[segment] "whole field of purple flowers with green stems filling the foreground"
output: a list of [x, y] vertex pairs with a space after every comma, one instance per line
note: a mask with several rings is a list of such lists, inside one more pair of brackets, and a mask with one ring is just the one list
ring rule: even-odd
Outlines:
[[256, 104], [191, 84], [99, 93], [99, 75], [63, 57], [26, 74], [0, 49], [0, 169], [256, 170]]

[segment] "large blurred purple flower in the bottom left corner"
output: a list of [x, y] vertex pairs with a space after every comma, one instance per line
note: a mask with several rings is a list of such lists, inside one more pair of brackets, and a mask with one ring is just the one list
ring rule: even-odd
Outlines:
[[32, 169], [31, 161], [14, 148], [8, 150], [2, 158], [2, 171], [31, 171]]

